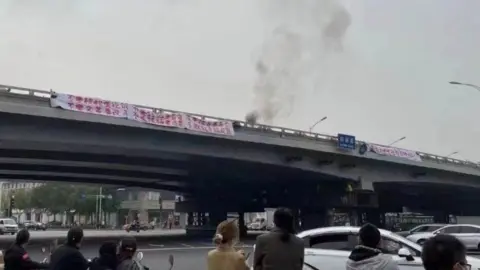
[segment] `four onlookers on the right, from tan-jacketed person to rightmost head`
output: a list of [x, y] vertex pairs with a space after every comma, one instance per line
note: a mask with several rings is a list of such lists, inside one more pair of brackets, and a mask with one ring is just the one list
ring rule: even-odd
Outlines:
[[[302, 270], [305, 244], [294, 232], [294, 217], [286, 208], [273, 215], [275, 228], [260, 235], [255, 244], [253, 265], [248, 265], [249, 254], [236, 250], [239, 229], [234, 221], [223, 221], [214, 237], [216, 248], [208, 253], [208, 270]], [[359, 231], [357, 245], [346, 262], [346, 270], [398, 270], [391, 255], [383, 254], [381, 234], [372, 224], [364, 224]], [[422, 250], [425, 270], [471, 270], [467, 250], [451, 235], [436, 235], [427, 240]], [[328, 265], [324, 269], [328, 270]]]

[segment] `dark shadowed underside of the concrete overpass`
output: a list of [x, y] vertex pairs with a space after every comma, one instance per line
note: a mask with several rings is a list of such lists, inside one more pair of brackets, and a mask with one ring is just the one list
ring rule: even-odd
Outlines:
[[[185, 212], [247, 212], [278, 206], [324, 211], [344, 206], [348, 183], [357, 181], [323, 173], [318, 162], [331, 160], [318, 153], [305, 154], [317, 162], [311, 169], [298, 165], [301, 160], [289, 163], [287, 157], [302, 158], [292, 149], [241, 142], [219, 147], [211, 136], [192, 138], [5, 113], [0, 113], [0, 120], [0, 180], [170, 190], [187, 195], [188, 201], [179, 206]], [[470, 213], [480, 198], [472, 188], [431, 183], [387, 182], [374, 187], [382, 211], [407, 206], [415, 211]]]

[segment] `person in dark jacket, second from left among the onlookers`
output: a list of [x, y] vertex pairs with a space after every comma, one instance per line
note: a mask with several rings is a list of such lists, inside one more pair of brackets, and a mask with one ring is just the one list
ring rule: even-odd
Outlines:
[[88, 261], [80, 252], [83, 230], [71, 228], [67, 233], [67, 242], [58, 247], [50, 257], [50, 270], [86, 270]]

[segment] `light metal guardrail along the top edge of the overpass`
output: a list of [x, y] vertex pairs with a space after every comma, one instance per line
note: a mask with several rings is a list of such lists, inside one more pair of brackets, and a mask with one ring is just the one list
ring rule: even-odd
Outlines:
[[[25, 88], [25, 87], [17, 87], [17, 86], [10, 86], [10, 85], [0, 85], [0, 93], [1, 92], [7, 92], [10, 94], [18, 94], [22, 96], [32, 96], [36, 98], [45, 98], [45, 99], [50, 99], [52, 95], [55, 94], [55, 91], [50, 90], [38, 90], [38, 89], [32, 89], [32, 88]], [[154, 108], [154, 107], [149, 107], [149, 106], [143, 106], [143, 105], [135, 105], [139, 108], [146, 109], [146, 110], [152, 110], [154, 112], [165, 112], [165, 113], [185, 113], [181, 111], [175, 111], [175, 110], [167, 110], [167, 109], [160, 109], [160, 108]], [[337, 136], [332, 136], [332, 135], [326, 135], [326, 134], [320, 134], [320, 133], [315, 133], [315, 132], [309, 132], [309, 131], [303, 131], [303, 130], [298, 130], [298, 129], [292, 129], [292, 128], [285, 128], [285, 127], [277, 127], [277, 126], [269, 126], [269, 125], [263, 125], [263, 124], [249, 124], [245, 121], [240, 121], [240, 120], [232, 120], [232, 119], [227, 119], [227, 118], [220, 118], [220, 117], [213, 117], [213, 116], [207, 116], [207, 115], [202, 115], [202, 114], [195, 114], [195, 113], [187, 113], [191, 116], [200, 118], [202, 120], [211, 120], [211, 121], [230, 121], [234, 124], [234, 127], [244, 127], [248, 129], [252, 129], [255, 131], [259, 132], [265, 132], [265, 133], [272, 133], [276, 134], [280, 137], [298, 137], [298, 138], [303, 138], [303, 139], [310, 139], [310, 140], [316, 140], [316, 141], [325, 141], [325, 142], [337, 142]], [[361, 143], [366, 143], [370, 144], [369, 142], [365, 141], [357, 141], [359, 144]], [[380, 145], [380, 144], [377, 144]], [[449, 158], [445, 156], [438, 156], [430, 153], [424, 153], [424, 152], [418, 152], [416, 153], [422, 158], [422, 160], [428, 160], [432, 162], [436, 162], [439, 164], [451, 164], [451, 165], [460, 165], [460, 166], [468, 166], [468, 167], [474, 167], [474, 168], [480, 168], [480, 163], [475, 163], [467, 160], [461, 160], [461, 159], [454, 159], [454, 158]]]

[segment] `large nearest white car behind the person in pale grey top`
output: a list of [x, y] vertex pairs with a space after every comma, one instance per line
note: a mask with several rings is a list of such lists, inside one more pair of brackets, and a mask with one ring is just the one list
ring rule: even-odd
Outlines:
[[[305, 242], [304, 269], [345, 270], [350, 252], [358, 245], [359, 230], [359, 227], [341, 226], [299, 233], [297, 236]], [[423, 269], [420, 245], [387, 230], [380, 230], [380, 233], [382, 242], [379, 248], [390, 254], [400, 269]], [[480, 259], [467, 257], [467, 260], [472, 269], [480, 268]]]

